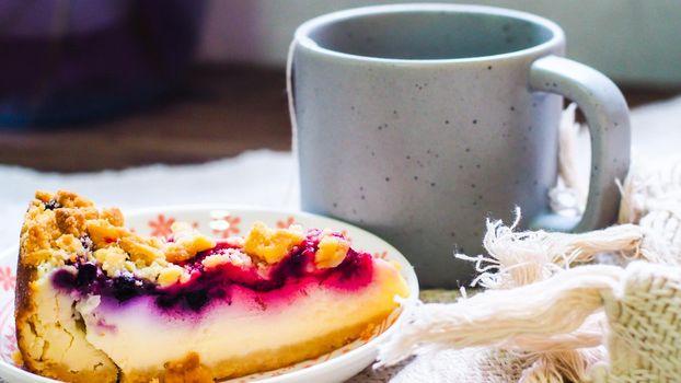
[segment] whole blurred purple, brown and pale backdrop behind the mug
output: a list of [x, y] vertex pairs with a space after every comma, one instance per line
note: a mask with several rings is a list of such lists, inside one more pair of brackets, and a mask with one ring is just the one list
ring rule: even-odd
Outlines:
[[[296, 26], [395, 2], [0, 0], [0, 164], [81, 172], [289, 150]], [[556, 21], [568, 56], [630, 106], [681, 93], [678, 0], [468, 2]]]

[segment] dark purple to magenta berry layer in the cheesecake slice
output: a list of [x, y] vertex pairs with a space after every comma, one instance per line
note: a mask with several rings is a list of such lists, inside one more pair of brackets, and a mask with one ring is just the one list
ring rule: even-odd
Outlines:
[[209, 255], [224, 252], [230, 245], [220, 242], [216, 247], [199, 253], [180, 266], [189, 272], [189, 280], [170, 287], [138, 278], [132, 274], [111, 278], [101, 265], [79, 259], [70, 266], [56, 270], [53, 285], [69, 292], [82, 295], [97, 294], [113, 298], [125, 304], [138, 297], [153, 297], [159, 309], [189, 310], [200, 312], [215, 301], [232, 302], [235, 289], [245, 289], [258, 304], [281, 295], [299, 293], [310, 285], [330, 289], [353, 291], [371, 282], [373, 276], [372, 257], [368, 253], [348, 249], [340, 265], [333, 268], [318, 268], [314, 254], [319, 241], [308, 236], [300, 245], [279, 263], [258, 269], [256, 266], [236, 266], [226, 263], [207, 269], [201, 260]]

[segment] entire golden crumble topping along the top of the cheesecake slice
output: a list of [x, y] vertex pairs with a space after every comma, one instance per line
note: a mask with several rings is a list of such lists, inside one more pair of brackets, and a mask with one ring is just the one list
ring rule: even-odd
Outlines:
[[[172, 225], [169, 239], [145, 236], [123, 227], [120, 210], [97, 210], [93, 204], [70, 192], [51, 195], [37, 192], [22, 228], [22, 253], [27, 264], [39, 270], [79, 262], [101, 265], [107, 277], [136, 276], [161, 287], [191, 279], [184, 263], [197, 254], [216, 248], [216, 241], [198, 233], [188, 223]], [[338, 266], [350, 248], [348, 240], [331, 231], [313, 231], [316, 242], [314, 265], [320, 268]], [[218, 248], [199, 259], [206, 269], [224, 264], [266, 267], [282, 260], [307, 236], [300, 225], [269, 229], [256, 222], [245, 237], [231, 236]]]

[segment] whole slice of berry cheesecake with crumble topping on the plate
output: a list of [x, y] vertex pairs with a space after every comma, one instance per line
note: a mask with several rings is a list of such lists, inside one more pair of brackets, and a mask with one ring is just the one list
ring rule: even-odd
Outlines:
[[340, 233], [253, 225], [215, 241], [124, 227], [117, 209], [38, 192], [21, 233], [16, 338], [26, 369], [68, 382], [212, 382], [342, 347], [407, 288]]

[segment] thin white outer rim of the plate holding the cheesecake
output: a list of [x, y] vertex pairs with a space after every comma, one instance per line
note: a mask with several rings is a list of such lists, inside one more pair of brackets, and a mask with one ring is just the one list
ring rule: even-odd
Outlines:
[[[388, 241], [383, 240], [377, 234], [373, 234], [362, 228], [359, 228], [353, 223], [348, 223], [340, 219], [327, 216], [315, 214], [312, 212], [293, 210], [293, 209], [281, 209], [281, 208], [268, 208], [262, 206], [250, 206], [250, 205], [239, 205], [239, 204], [183, 204], [183, 205], [160, 205], [160, 206], [150, 206], [143, 208], [132, 208], [132, 209], [122, 209], [124, 212], [124, 218], [127, 221], [130, 218], [136, 218], [140, 216], [148, 216], [152, 213], [168, 213], [168, 212], [192, 212], [192, 211], [209, 211], [209, 210], [231, 210], [239, 212], [263, 212], [263, 213], [276, 213], [276, 214], [288, 214], [288, 216], [298, 216], [298, 217], [308, 217], [313, 219], [322, 219], [336, 224], [342, 225], [344, 229], [351, 229], [354, 232], [360, 233], [362, 236], [369, 236], [378, 240], [383, 245], [386, 246], [386, 249], [393, 256], [393, 258], [397, 258], [397, 260], [402, 267], [404, 268], [404, 272], [406, 274], [406, 283], [409, 290], [409, 299], [418, 298], [419, 286], [418, 278], [416, 272], [414, 271], [414, 266], [408, 262], [408, 259], [392, 244]], [[5, 257], [16, 257], [19, 253], [19, 245], [13, 245], [11, 247], [7, 247], [0, 251], [0, 259], [4, 259]], [[291, 372], [286, 372], [279, 376], [269, 376], [262, 380], [255, 380], [253, 382], [257, 383], [282, 383], [287, 381], [303, 381], [304, 379], [313, 378], [316, 374], [322, 373], [324, 370], [334, 370], [334, 367], [338, 367], [338, 364], [353, 363], [355, 360], [360, 360], [362, 358], [368, 357], [370, 353], [376, 352], [378, 345], [386, 339], [390, 335], [392, 335], [396, 328], [399, 327], [399, 323], [404, 320], [404, 311], [399, 314], [395, 322], [383, 333], [379, 334], [373, 339], [369, 340], [367, 344], [359, 346], [347, 353], [337, 356], [333, 359], [323, 361], [321, 363], [311, 365], [309, 368], [295, 370]], [[13, 316], [13, 315], [12, 315]], [[60, 381], [53, 380], [50, 378], [42, 376], [38, 374], [34, 374], [30, 371], [23, 370], [15, 365], [12, 365], [4, 360], [0, 359], [0, 369], [8, 371], [14, 376], [21, 376], [24, 379], [33, 379], [36, 383], [59, 383]], [[276, 371], [276, 370], [273, 370]], [[308, 376], [310, 375], [310, 376]], [[246, 375], [247, 376], [247, 375]], [[245, 378], [245, 376], [241, 376]], [[239, 378], [235, 378], [239, 379]], [[224, 382], [229, 382], [224, 381]]]

